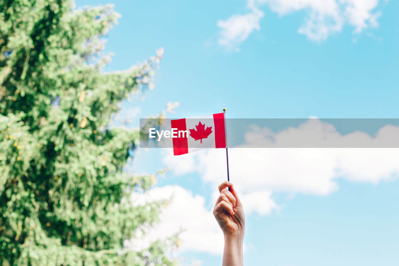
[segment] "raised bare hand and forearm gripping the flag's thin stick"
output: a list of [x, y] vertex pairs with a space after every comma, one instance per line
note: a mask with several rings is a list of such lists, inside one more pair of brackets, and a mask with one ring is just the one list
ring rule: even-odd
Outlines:
[[[230, 191], [227, 188], [230, 188]], [[225, 246], [223, 266], [243, 266], [243, 240], [245, 217], [243, 205], [233, 184], [225, 181], [219, 185], [220, 195], [217, 198], [213, 215], [223, 231]]]

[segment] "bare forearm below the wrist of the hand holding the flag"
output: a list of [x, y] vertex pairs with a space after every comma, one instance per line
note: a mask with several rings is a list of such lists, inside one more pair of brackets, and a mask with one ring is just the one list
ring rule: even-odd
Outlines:
[[243, 266], [244, 234], [225, 236], [223, 251], [223, 266]]

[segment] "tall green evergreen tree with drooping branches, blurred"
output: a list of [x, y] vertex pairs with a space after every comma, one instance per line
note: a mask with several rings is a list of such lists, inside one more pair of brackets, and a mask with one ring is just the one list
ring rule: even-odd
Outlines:
[[151, 88], [160, 58], [103, 73], [118, 16], [69, 0], [0, 0], [0, 265], [175, 263], [175, 237], [124, 247], [165, 202], [131, 204], [155, 178], [122, 171], [139, 132], [108, 126], [122, 99]]

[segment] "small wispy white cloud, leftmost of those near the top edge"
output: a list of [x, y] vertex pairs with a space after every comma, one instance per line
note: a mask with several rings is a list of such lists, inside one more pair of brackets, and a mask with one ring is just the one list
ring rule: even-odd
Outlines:
[[245, 41], [254, 30], [260, 30], [259, 20], [263, 12], [253, 8], [251, 13], [245, 15], [233, 15], [227, 20], [219, 20], [217, 26], [221, 28], [219, 45], [229, 49], [239, 50], [238, 46]]

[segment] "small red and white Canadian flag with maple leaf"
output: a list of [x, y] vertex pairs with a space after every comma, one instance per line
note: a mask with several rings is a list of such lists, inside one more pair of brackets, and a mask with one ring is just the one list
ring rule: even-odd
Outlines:
[[174, 155], [182, 155], [201, 149], [226, 147], [223, 113], [176, 119], [171, 120], [170, 123], [172, 129], [187, 132], [172, 139]]

